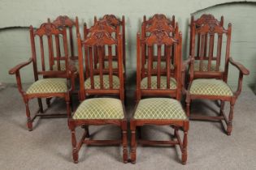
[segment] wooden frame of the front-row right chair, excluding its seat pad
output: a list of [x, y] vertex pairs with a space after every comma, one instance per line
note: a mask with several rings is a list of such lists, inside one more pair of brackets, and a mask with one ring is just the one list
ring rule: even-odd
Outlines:
[[[145, 91], [142, 91], [141, 88], [141, 49], [144, 45], [149, 45], [152, 47], [154, 44], [158, 45], [158, 89], [150, 89], [150, 74], [148, 79], [148, 89]], [[171, 49], [171, 45], [175, 46], [175, 57], [176, 57], [176, 66], [175, 66], [175, 75], [177, 82], [177, 89], [176, 90], [166, 90], [166, 89], [160, 89], [159, 81], [160, 81], [160, 54], [159, 47], [161, 45], [169, 46], [169, 49]], [[144, 95], [150, 94], [150, 96], [156, 96], [158, 94], [164, 94], [167, 96], [172, 96], [173, 98], [176, 98], [176, 100], [180, 100], [181, 98], [181, 45], [182, 45], [182, 36], [181, 33], [177, 33], [175, 37], [170, 37], [167, 32], [164, 32], [163, 30], [156, 30], [152, 32], [151, 36], [141, 39], [140, 33], [137, 33], [137, 93], [143, 92]], [[150, 53], [149, 53], [150, 54]], [[169, 53], [171, 54], [171, 53]], [[149, 60], [152, 62], [152, 55], [149, 55]], [[171, 55], [167, 55], [167, 61], [171, 60]], [[151, 70], [151, 66], [149, 64], [148, 66], [149, 73]], [[167, 62], [167, 87], [170, 86], [170, 81], [168, 79], [171, 78], [171, 72], [170, 72], [170, 62]], [[139, 100], [141, 99], [140, 95], [137, 96], [137, 104], [139, 103]], [[137, 106], [135, 107], [136, 110]], [[169, 140], [169, 141], [148, 141], [143, 139], [136, 139], [136, 130], [137, 127], [141, 127], [143, 125], [171, 125], [175, 130], [174, 134], [177, 138], [177, 140]], [[189, 120], [173, 120], [173, 119], [135, 119], [132, 117], [130, 120], [130, 129], [132, 131], [132, 138], [131, 138], [131, 159], [132, 163], [135, 164], [136, 157], [137, 157], [137, 142], [143, 144], [143, 145], [167, 145], [167, 146], [175, 146], [179, 145], [180, 150], [182, 152], [182, 164], [186, 164], [187, 161], [187, 144], [188, 144], [188, 130], [189, 130]], [[184, 138], [183, 141], [180, 139], [180, 135], [178, 133], [178, 130], [184, 131]], [[141, 134], [141, 132], [139, 132]], [[139, 135], [140, 136], [140, 135]]]

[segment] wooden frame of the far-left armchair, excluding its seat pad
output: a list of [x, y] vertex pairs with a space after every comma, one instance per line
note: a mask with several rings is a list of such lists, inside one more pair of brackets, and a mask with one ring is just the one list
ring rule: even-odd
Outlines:
[[[40, 49], [41, 49], [41, 68], [42, 70], [37, 69], [37, 52], [36, 52], [36, 45], [35, 45], [35, 37], [38, 36], [40, 38]], [[47, 36], [48, 40], [48, 47], [49, 47], [49, 60], [50, 60], [50, 70], [46, 70], [46, 64], [45, 64], [45, 53], [44, 53], [44, 46], [43, 46], [43, 36]], [[53, 51], [53, 40], [52, 36], [55, 37], [55, 44], [56, 49], [59, 49], [59, 37], [63, 36], [63, 48], [64, 48], [64, 57], [60, 56], [60, 53], [57, 53], [57, 63], [59, 66], [59, 62], [61, 59], [65, 60], [66, 68], [69, 68], [65, 71], [61, 70], [52, 70], [52, 61], [54, 58], [54, 51]], [[76, 71], [75, 68], [72, 67], [69, 63], [68, 59], [68, 51], [67, 51], [67, 34], [66, 29], [63, 28], [63, 30], [60, 30], [58, 28], [55, 28], [54, 24], [52, 23], [42, 23], [41, 27], [37, 30], [34, 30], [33, 26], [30, 26], [30, 40], [31, 40], [31, 47], [32, 47], [32, 57], [28, 59], [28, 62], [22, 62], [19, 65], [15, 66], [11, 70], [9, 70], [9, 74], [15, 74], [16, 81], [18, 85], [18, 90], [20, 91], [21, 96], [24, 99], [24, 103], [26, 106], [26, 115], [27, 115], [27, 126], [28, 130], [33, 130], [33, 121], [36, 119], [36, 117], [70, 117], [71, 110], [70, 110], [70, 93], [74, 89], [73, 84], [72, 87], [69, 88], [67, 92], [64, 93], [43, 93], [43, 94], [27, 94], [26, 91], [24, 91], [21, 83], [20, 78], [20, 70], [24, 66], [28, 66], [30, 63], [33, 64], [33, 73], [34, 73], [34, 79], [35, 82], [38, 80], [38, 76], [42, 75], [43, 78], [67, 78], [67, 79], [74, 79], [73, 73]], [[64, 98], [67, 104], [67, 113], [65, 114], [48, 114], [45, 113], [46, 109], [43, 109], [43, 105], [41, 102], [41, 98], [52, 98], [52, 97], [60, 97]], [[32, 100], [33, 98], [37, 98], [39, 109], [35, 113], [33, 117], [31, 117], [30, 110], [28, 107], [28, 100]], [[48, 108], [50, 107], [50, 100], [47, 102]]]

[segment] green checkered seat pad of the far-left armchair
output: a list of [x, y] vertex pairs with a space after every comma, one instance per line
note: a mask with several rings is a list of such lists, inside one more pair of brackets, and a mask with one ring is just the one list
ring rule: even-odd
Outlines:
[[26, 91], [27, 94], [62, 92], [67, 92], [67, 79], [62, 78], [37, 80], [37, 82], [28, 87], [28, 90]]

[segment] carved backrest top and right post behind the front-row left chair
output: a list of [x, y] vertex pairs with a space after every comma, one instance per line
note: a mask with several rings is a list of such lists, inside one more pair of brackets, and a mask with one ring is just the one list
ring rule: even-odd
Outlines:
[[[126, 49], [125, 49], [125, 19], [124, 15], [122, 16], [122, 19], [118, 19], [115, 15], [104, 15], [99, 20], [106, 20], [108, 24], [110, 24], [112, 27], [116, 29], [120, 29], [119, 32], [122, 35], [122, 43], [123, 43], [123, 62], [125, 66], [125, 56], [126, 56]], [[97, 17], [94, 16], [94, 23], [97, 22]], [[115, 37], [116, 38], [116, 37]]]

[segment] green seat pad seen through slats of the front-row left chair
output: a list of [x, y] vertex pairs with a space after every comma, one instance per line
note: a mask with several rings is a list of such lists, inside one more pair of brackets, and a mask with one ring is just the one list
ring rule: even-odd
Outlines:
[[[105, 74], [102, 77], [103, 77], [103, 87], [106, 89], [110, 88], [110, 79], [109, 79], [110, 76], [108, 74]], [[101, 87], [100, 76], [94, 75], [93, 80], [94, 80], [94, 88], [99, 89]], [[85, 89], [90, 89], [90, 88], [91, 88], [91, 79], [88, 78], [85, 80]], [[118, 88], [119, 88], [119, 77], [117, 77], [116, 75], [113, 75], [113, 89], [118, 89]]]

